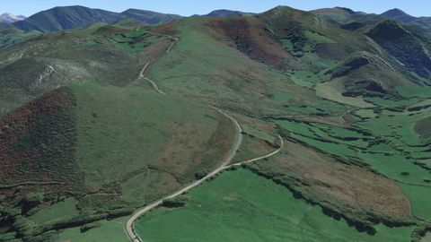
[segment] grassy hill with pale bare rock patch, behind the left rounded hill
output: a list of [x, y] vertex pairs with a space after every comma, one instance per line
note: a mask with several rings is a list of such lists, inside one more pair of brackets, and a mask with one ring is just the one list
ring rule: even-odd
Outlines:
[[[55, 45], [48, 45], [48, 41]], [[169, 44], [166, 38], [136, 27], [95, 24], [5, 48], [0, 54], [4, 73], [0, 76], [0, 113], [71, 83], [126, 85], [136, 80], [145, 61], [157, 54], [154, 48]]]

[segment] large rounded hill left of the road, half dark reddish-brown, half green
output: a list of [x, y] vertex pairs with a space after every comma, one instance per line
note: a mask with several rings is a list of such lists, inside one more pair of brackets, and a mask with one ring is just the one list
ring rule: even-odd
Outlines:
[[130, 214], [214, 169], [233, 141], [214, 109], [92, 83], [48, 92], [0, 124], [0, 231], [24, 241]]

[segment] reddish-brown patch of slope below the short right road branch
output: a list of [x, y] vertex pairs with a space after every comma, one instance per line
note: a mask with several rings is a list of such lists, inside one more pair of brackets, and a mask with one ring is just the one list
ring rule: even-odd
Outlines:
[[410, 218], [408, 197], [390, 179], [368, 169], [339, 163], [327, 155], [286, 142], [270, 169], [296, 177], [306, 193], [327, 203], [390, 218]]

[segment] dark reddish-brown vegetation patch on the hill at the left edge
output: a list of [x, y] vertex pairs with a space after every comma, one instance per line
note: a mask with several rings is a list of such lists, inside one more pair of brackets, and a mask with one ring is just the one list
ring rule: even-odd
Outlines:
[[[40, 129], [40, 133], [34, 132], [35, 124], [40, 121], [41, 116], [55, 116], [70, 109], [72, 100], [67, 95], [63, 89], [51, 91], [40, 99], [33, 100], [0, 119], [1, 183], [27, 182], [32, 177], [38, 177], [37, 181], [53, 180], [53, 174], [50, 173], [38, 174], [37, 176], [32, 174], [37, 169], [35, 168], [37, 164], [33, 161], [43, 159], [41, 152], [38, 149], [22, 149], [26, 146], [17, 147], [17, 143], [22, 140], [36, 142], [38, 139], [43, 140], [40, 136], [44, 134], [44, 130]], [[55, 122], [56, 120], [50, 121]], [[46, 133], [49, 135], [48, 130]], [[31, 145], [31, 142], [28, 145]], [[42, 148], [49, 149], [43, 145]], [[48, 162], [49, 160], [45, 161]], [[17, 173], [19, 169], [22, 170], [21, 174]]]

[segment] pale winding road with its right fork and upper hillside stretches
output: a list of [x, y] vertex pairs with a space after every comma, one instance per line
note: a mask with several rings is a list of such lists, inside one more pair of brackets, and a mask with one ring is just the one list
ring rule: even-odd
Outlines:
[[[166, 49], [166, 53], [170, 52], [173, 45], [175, 45], [175, 43], [179, 40], [177, 38], [173, 38], [172, 36], [167, 36], [169, 39], [172, 39], [174, 41], [172, 41], [172, 44], [169, 46], [169, 48]], [[142, 71], [139, 73], [139, 78], [144, 78], [147, 82], [150, 82], [150, 84], [153, 86], [154, 91], [157, 91], [163, 95], [167, 95], [165, 92], [161, 91], [159, 89], [159, 87], [157, 86], [157, 84], [155, 84], [155, 82], [153, 82], [152, 80], [150, 80], [149, 78], [147, 78], [145, 76], [145, 70], [146, 68], [148, 68], [148, 66], [151, 64], [152, 61], [148, 62], [147, 64], [145, 64], [144, 68], [142, 69]], [[233, 157], [235, 156], [236, 152], [239, 150], [241, 144], [242, 144], [242, 128], [241, 125], [238, 123], [238, 121], [236, 121], [236, 119], [234, 119], [233, 117], [229, 116], [228, 114], [224, 113], [224, 111], [220, 110], [219, 108], [215, 108], [212, 106], [209, 106], [210, 108], [215, 109], [216, 111], [218, 111], [219, 113], [221, 113], [222, 115], [224, 115], [224, 117], [228, 117], [233, 125], [235, 126], [235, 138], [234, 138], [234, 142], [233, 142], [233, 147], [231, 148], [231, 150], [225, 155], [223, 162], [221, 163], [221, 165], [219, 167], [217, 167], [216, 169], [214, 169], [213, 171], [211, 171], [210, 173], [207, 174], [207, 176], [194, 181], [193, 183], [189, 184], [188, 186], [184, 186], [182, 188], [180, 188], [180, 190], [174, 192], [173, 194], [169, 194], [164, 196], [163, 198], [155, 201], [154, 203], [150, 203], [148, 205], [146, 205], [144, 208], [138, 210], [137, 212], [135, 212], [132, 217], [128, 220], [128, 222], [126, 223], [126, 231], [128, 233], [128, 238], [132, 241], [132, 242], [142, 242], [143, 240], [141, 238], [139, 238], [139, 236], [135, 233], [135, 229], [133, 227], [133, 223], [135, 222], [135, 220], [137, 220], [140, 216], [142, 216], [143, 214], [145, 214], [145, 212], [149, 212], [151, 210], [153, 210], [154, 208], [162, 205], [163, 201], [166, 199], [172, 199], [176, 196], [179, 196], [180, 194], [184, 194], [186, 192], [188, 192], [190, 189], [201, 185], [203, 182], [207, 181], [209, 178], [216, 176], [218, 173], [220, 173], [221, 171], [223, 171], [224, 169], [230, 169], [233, 167], [239, 167], [242, 164], [246, 164], [246, 163], [250, 163], [256, 160], [262, 160], [268, 157], [271, 157], [273, 155], [276, 155], [279, 151], [281, 151], [284, 147], [284, 142], [283, 142], [283, 138], [278, 134], [278, 138], [280, 139], [280, 148], [278, 148], [276, 151], [272, 151], [270, 153], [268, 153], [267, 155], [264, 156], [260, 156], [258, 158], [254, 158], [251, 160], [245, 160], [239, 163], [235, 163], [235, 164], [230, 164], [231, 161], [233, 160]]]

